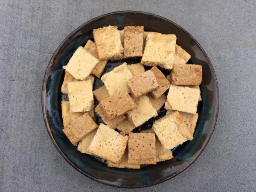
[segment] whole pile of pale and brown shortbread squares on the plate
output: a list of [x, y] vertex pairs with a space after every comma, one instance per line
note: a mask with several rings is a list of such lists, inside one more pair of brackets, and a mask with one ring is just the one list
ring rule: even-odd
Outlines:
[[[79, 151], [110, 167], [140, 169], [172, 159], [173, 148], [193, 139], [202, 66], [186, 64], [190, 55], [176, 44], [176, 35], [144, 32], [143, 26], [94, 29], [93, 39], [63, 66], [61, 92], [68, 95], [61, 102], [64, 134]], [[108, 62], [125, 58], [141, 61], [124, 62], [102, 75]], [[145, 71], [144, 65], [152, 67]], [[104, 86], [93, 90], [95, 78]], [[165, 116], [133, 132], [158, 116], [163, 105]], [[104, 123], [95, 122], [95, 112]]]

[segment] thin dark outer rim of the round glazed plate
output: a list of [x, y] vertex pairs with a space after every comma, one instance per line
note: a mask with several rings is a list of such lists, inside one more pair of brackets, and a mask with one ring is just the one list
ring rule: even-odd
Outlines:
[[[53, 135], [52, 135], [52, 132], [51, 132], [51, 129], [50, 129], [50, 126], [49, 126], [49, 123], [48, 123], [48, 120], [47, 120], [47, 110], [45, 108], [45, 97], [44, 97], [44, 91], [46, 90], [46, 84], [47, 84], [47, 70], [49, 69], [50, 65], [52, 64], [54, 58], [55, 58], [55, 55], [57, 54], [57, 52], [59, 51], [59, 49], [62, 47], [62, 45], [64, 44], [64, 42], [67, 41], [67, 39], [73, 35], [73, 33], [75, 33], [77, 30], [79, 30], [81, 27], [83, 27], [84, 25], [86, 25], [87, 23], [90, 23], [92, 22], [93, 20], [97, 20], [101, 17], [106, 17], [108, 15], [114, 15], [114, 14], [119, 14], [119, 13], [140, 13], [140, 14], [144, 14], [144, 15], [151, 15], [151, 16], [154, 16], [154, 17], [159, 17], [163, 20], [167, 20], [168, 22], [176, 25], [177, 27], [179, 27], [181, 30], [183, 30], [187, 35], [189, 35], [190, 38], [193, 39], [193, 41], [196, 42], [196, 44], [198, 44], [198, 47], [199, 49], [202, 51], [202, 53], [204, 54], [204, 56], [206, 57], [207, 59], [207, 62], [209, 63], [209, 68], [211, 70], [211, 72], [214, 74], [215, 76], [215, 79], [216, 79], [216, 95], [217, 95], [217, 106], [216, 106], [216, 113], [213, 114], [215, 115], [214, 118], [215, 118], [215, 121], [214, 121], [214, 125], [213, 125], [213, 128], [212, 128], [212, 132], [210, 133], [209, 135], [209, 139], [207, 140], [207, 142], [205, 143], [204, 147], [202, 148], [202, 150], [198, 153], [198, 155], [195, 157], [195, 159], [190, 162], [186, 167], [184, 167], [183, 169], [181, 169], [180, 171], [176, 172], [175, 174], [173, 175], [169, 175], [165, 178], [163, 178], [163, 180], [160, 180], [160, 181], [157, 181], [157, 182], [152, 182], [152, 183], [149, 183], [149, 184], [145, 184], [145, 185], [141, 185], [141, 186], [119, 186], [119, 185], [115, 185], [115, 184], [112, 184], [112, 183], [108, 183], [108, 182], [105, 182], [105, 180], [99, 180], [95, 177], [92, 177], [90, 175], [88, 175], [87, 173], [83, 172], [81, 169], [79, 169], [76, 165], [74, 165], [74, 163], [72, 163], [68, 157], [61, 151], [61, 149], [59, 148], [58, 144], [55, 142], [54, 138], [53, 138]], [[58, 46], [58, 48], [55, 50], [55, 52], [53, 53], [52, 55], [52, 58], [50, 59], [49, 61], [49, 64], [47, 65], [47, 69], [45, 70], [45, 74], [44, 74], [44, 80], [43, 80], [43, 84], [42, 84], [42, 90], [41, 90], [41, 105], [42, 105], [42, 112], [43, 112], [43, 116], [44, 116], [44, 123], [45, 123], [45, 126], [46, 126], [46, 129], [47, 129], [47, 132], [49, 134], [49, 137], [51, 138], [52, 140], [52, 143], [54, 144], [55, 148], [57, 149], [57, 151], [61, 154], [61, 156], [64, 158], [64, 160], [67, 161], [67, 163], [69, 163], [74, 169], [76, 169], [78, 172], [80, 172], [82, 175], [85, 175], [87, 176], [88, 178], [94, 180], [94, 181], [97, 181], [99, 183], [102, 183], [102, 184], [105, 184], [105, 185], [108, 185], [108, 186], [113, 186], [113, 187], [118, 187], [118, 188], [142, 188], [142, 187], [148, 187], [148, 186], [153, 186], [153, 185], [157, 185], [159, 183], [163, 183], [165, 182], [166, 180], [169, 180], [171, 179], [172, 177], [175, 177], [177, 175], [179, 175], [181, 172], [183, 172], [185, 169], [187, 169], [189, 166], [191, 166], [195, 160], [198, 159], [198, 157], [202, 154], [202, 152], [204, 151], [204, 149], [206, 148], [206, 146], [208, 145], [209, 143], [209, 140], [211, 139], [212, 137], [212, 134], [213, 134], [213, 131], [215, 130], [215, 126], [216, 126], [216, 122], [217, 122], [217, 118], [218, 118], [218, 110], [219, 110], [219, 89], [218, 89], [218, 81], [217, 81], [217, 77], [216, 77], [216, 74], [215, 74], [215, 70], [212, 66], [212, 62], [210, 61], [208, 55], [206, 54], [206, 52], [204, 51], [203, 47], [201, 47], [201, 45], [198, 43], [198, 41], [189, 33], [187, 32], [185, 29], [183, 29], [180, 25], [178, 25], [177, 23], [165, 18], [165, 17], [162, 17], [160, 15], [156, 15], [156, 14], [153, 14], [153, 13], [150, 13], [150, 12], [142, 12], [142, 11], [117, 11], [117, 12], [111, 12], [111, 13], [107, 13], [107, 14], [104, 14], [104, 15], [100, 15], [100, 16], [97, 16], [91, 20], [88, 20], [86, 21], [85, 23], [82, 23], [79, 27], [77, 27], [76, 29], [74, 29], [69, 35], [67, 35], [67, 37], [61, 42], [61, 44]]]

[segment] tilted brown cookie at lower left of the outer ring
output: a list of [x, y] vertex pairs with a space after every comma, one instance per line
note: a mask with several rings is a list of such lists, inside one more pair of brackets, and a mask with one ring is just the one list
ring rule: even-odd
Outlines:
[[79, 116], [67, 128], [63, 129], [64, 134], [73, 145], [84, 138], [87, 134], [92, 132], [98, 127], [88, 113]]

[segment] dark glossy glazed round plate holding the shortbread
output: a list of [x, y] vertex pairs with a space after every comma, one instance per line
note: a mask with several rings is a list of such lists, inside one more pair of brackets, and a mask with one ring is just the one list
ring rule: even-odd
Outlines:
[[[93, 29], [108, 25], [117, 26], [119, 29], [123, 29], [124, 26], [144, 26], [145, 31], [175, 34], [177, 44], [191, 55], [189, 63], [203, 66], [203, 81], [200, 85], [202, 101], [198, 105], [199, 117], [194, 139], [172, 150], [175, 157], [172, 160], [160, 162], [157, 165], [142, 166], [141, 169], [136, 170], [109, 168], [99, 159], [79, 152], [62, 131], [61, 100], [66, 98], [65, 95], [61, 94], [61, 84], [64, 79], [62, 66], [67, 64], [79, 46], [84, 46], [87, 40], [93, 38]], [[125, 61], [135, 63], [140, 60]], [[108, 72], [122, 62], [109, 63], [103, 73]], [[101, 85], [102, 82], [97, 79], [93, 88], [95, 89]], [[217, 120], [219, 107], [218, 83], [208, 56], [195, 38], [186, 30], [158, 15], [134, 11], [114, 12], [84, 23], [61, 43], [52, 56], [44, 76], [42, 107], [49, 136], [62, 157], [71, 166], [100, 183], [116, 187], [137, 188], [168, 180], [185, 170], [198, 158], [207, 145]], [[160, 116], [163, 116], [165, 112], [163, 108], [158, 111]], [[99, 121], [100, 119], [97, 117], [97, 122]]]

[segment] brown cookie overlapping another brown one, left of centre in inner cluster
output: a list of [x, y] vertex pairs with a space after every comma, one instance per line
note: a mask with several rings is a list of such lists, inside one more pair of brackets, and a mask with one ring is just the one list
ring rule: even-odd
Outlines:
[[109, 119], [114, 119], [127, 111], [136, 108], [134, 101], [126, 91], [121, 91], [100, 102]]

